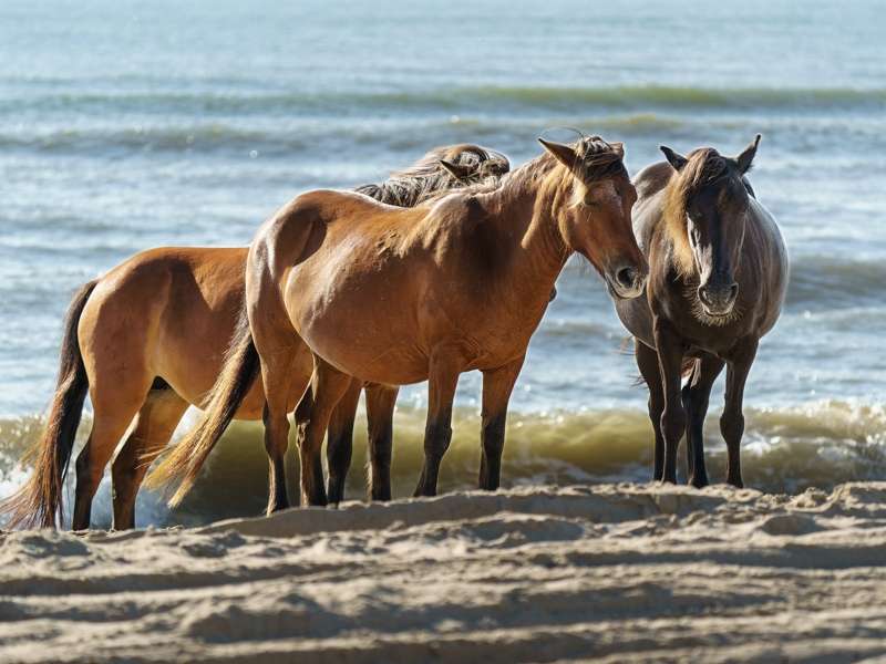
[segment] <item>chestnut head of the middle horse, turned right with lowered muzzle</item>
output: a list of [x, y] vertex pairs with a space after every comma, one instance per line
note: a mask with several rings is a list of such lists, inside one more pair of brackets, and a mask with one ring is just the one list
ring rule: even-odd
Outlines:
[[560, 188], [567, 199], [557, 206], [563, 241], [590, 261], [614, 297], [640, 295], [649, 270], [633, 237], [637, 190], [622, 162], [624, 146], [599, 136], [571, 145], [539, 141], [568, 169]]

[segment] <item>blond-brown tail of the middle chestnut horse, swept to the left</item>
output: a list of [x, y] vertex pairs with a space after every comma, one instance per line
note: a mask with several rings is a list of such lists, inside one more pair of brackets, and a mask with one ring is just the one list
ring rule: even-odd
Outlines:
[[194, 486], [203, 464], [253, 387], [259, 367], [258, 351], [244, 311], [231, 338], [225, 365], [209, 393], [203, 417], [145, 479], [145, 485], [152, 488], [179, 481], [169, 499], [169, 507], [182, 502]]

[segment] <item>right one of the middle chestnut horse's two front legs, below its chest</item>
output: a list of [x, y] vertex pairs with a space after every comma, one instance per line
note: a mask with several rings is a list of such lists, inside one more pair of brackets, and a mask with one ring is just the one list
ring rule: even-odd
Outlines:
[[523, 355], [509, 364], [483, 372], [480, 488], [487, 491], [497, 489], [501, 480], [507, 403], [525, 357]]

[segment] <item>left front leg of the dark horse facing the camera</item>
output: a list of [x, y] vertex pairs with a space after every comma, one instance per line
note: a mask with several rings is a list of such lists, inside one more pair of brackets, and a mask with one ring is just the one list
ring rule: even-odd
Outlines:
[[680, 397], [683, 353], [686, 344], [667, 321], [656, 319], [656, 350], [658, 351], [664, 409], [661, 413], [661, 435], [664, 438], [664, 461], [661, 480], [677, 483], [677, 448], [686, 432], [686, 409]]

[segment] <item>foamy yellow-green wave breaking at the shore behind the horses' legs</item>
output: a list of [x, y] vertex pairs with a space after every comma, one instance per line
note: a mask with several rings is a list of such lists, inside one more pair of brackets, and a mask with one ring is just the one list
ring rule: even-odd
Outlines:
[[[725, 448], [718, 415], [705, 426], [712, 481], [725, 475]], [[87, 419], [87, 418], [86, 418]], [[827, 401], [793, 408], [746, 408], [742, 463], [754, 488], [792, 492], [815, 486], [886, 477], [886, 408]], [[480, 464], [478, 414], [457, 408], [453, 440], [443, 461], [440, 489], [473, 488]], [[41, 427], [37, 417], [0, 421], [0, 490], [20, 483], [18, 465]], [[81, 427], [81, 440], [89, 422]], [[364, 495], [365, 418], [359, 417], [348, 497]], [[424, 412], [400, 407], [394, 421], [392, 481], [395, 496], [411, 495], [421, 471]], [[297, 459], [290, 445], [290, 496], [297, 496]], [[683, 449], [680, 450], [683, 463]], [[647, 481], [651, 475], [652, 428], [645, 412], [632, 409], [512, 413], [502, 470], [505, 486], [597, 481]], [[260, 513], [267, 497], [267, 458], [258, 423], [235, 423], [210, 456], [194, 491], [168, 512], [162, 496], [143, 491], [140, 525], [200, 523]], [[70, 492], [70, 490], [69, 490]], [[110, 523], [107, 480], [95, 508], [96, 523]]]

